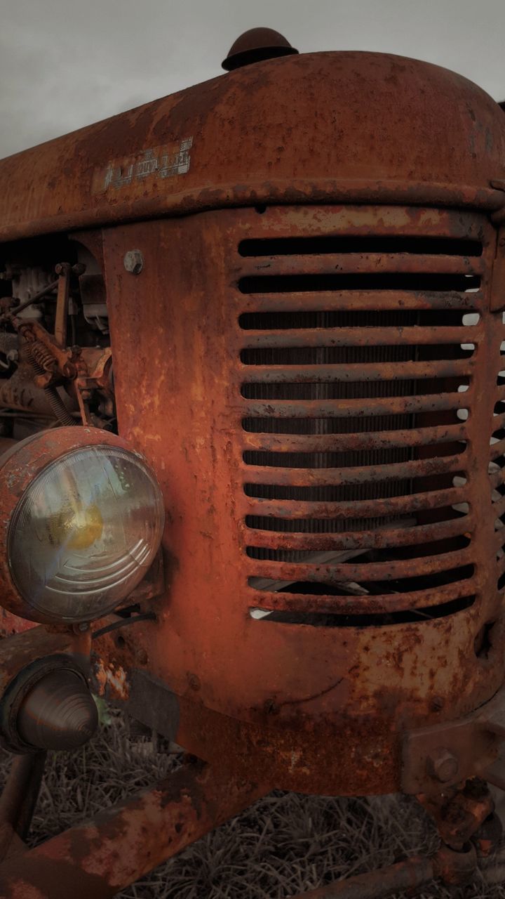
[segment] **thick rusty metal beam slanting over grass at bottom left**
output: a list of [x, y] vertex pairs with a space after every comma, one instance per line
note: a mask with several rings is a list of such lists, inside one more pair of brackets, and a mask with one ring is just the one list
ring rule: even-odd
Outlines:
[[268, 788], [187, 764], [138, 797], [0, 866], [2, 899], [111, 899]]

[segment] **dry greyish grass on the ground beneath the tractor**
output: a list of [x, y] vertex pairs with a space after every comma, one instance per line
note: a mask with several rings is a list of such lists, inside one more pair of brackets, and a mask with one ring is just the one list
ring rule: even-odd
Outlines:
[[[160, 748], [164, 748], [161, 746]], [[0, 774], [9, 759], [4, 753]], [[31, 830], [47, 839], [120, 798], [152, 784], [178, 764], [146, 740], [128, 737], [114, 717], [81, 752], [52, 753]], [[300, 891], [435, 849], [420, 806], [405, 797], [324, 798], [276, 792], [157, 868], [118, 899], [284, 899]], [[482, 880], [424, 899], [505, 899], [505, 886]]]

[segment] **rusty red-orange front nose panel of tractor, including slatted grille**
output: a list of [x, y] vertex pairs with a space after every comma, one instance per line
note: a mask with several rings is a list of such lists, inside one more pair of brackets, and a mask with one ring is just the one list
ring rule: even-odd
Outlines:
[[169, 512], [135, 647], [192, 752], [222, 727], [279, 786], [393, 790], [404, 729], [501, 685], [495, 252], [483, 213], [401, 207], [104, 232], [120, 432]]

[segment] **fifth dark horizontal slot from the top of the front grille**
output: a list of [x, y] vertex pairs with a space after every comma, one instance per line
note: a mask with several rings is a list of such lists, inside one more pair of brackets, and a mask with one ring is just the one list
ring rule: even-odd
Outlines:
[[[464, 383], [462, 383], [462, 381]], [[469, 387], [470, 378], [422, 378], [412, 380], [377, 381], [249, 381], [240, 392], [244, 399], [368, 399], [374, 396], [430, 396], [441, 393], [462, 393]]]

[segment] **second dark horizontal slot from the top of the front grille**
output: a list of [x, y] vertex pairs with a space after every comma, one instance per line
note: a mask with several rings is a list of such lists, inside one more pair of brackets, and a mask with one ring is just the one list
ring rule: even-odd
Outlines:
[[297, 293], [310, 290], [456, 290], [465, 293], [481, 286], [479, 275], [377, 271], [350, 274], [246, 275], [238, 281], [241, 293]]

